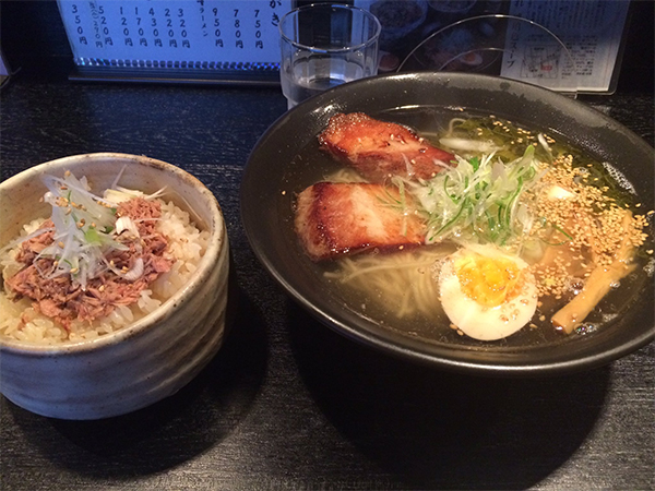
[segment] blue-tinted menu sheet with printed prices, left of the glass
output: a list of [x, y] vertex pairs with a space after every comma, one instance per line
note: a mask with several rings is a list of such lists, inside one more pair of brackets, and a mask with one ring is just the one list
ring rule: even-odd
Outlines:
[[291, 0], [58, 0], [72, 79], [277, 83]]

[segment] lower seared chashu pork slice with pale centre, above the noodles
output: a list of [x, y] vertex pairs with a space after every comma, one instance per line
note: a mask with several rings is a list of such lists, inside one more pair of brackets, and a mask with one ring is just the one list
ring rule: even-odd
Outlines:
[[318, 182], [298, 194], [295, 229], [313, 261], [403, 249], [425, 241], [424, 223], [412, 209], [396, 188]]

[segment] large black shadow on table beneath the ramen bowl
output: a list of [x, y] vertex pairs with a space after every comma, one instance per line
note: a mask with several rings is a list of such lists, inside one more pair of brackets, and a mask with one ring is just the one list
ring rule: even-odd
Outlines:
[[388, 356], [289, 307], [299, 372], [325, 417], [403, 489], [526, 489], [585, 441], [609, 368], [480, 378]]

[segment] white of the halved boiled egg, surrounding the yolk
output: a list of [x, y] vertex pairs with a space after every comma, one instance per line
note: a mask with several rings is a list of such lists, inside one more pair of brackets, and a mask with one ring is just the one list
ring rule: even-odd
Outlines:
[[475, 247], [475, 252], [488, 258], [513, 261], [524, 275], [521, 292], [498, 307], [487, 307], [468, 297], [460, 285], [455, 262], [472, 254], [472, 249], [460, 249], [448, 256], [439, 274], [440, 299], [450, 321], [465, 335], [479, 340], [496, 340], [511, 336], [525, 326], [537, 309], [535, 278], [527, 271], [527, 263], [520, 258], [502, 253], [492, 247]]

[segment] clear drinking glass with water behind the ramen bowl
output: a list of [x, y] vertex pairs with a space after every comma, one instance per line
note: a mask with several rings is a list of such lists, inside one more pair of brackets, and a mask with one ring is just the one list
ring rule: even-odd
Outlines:
[[279, 21], [282, 92], [288, 108], [345, 82], [378, 73], [380, 22], [346, 4], [313, 3]]

